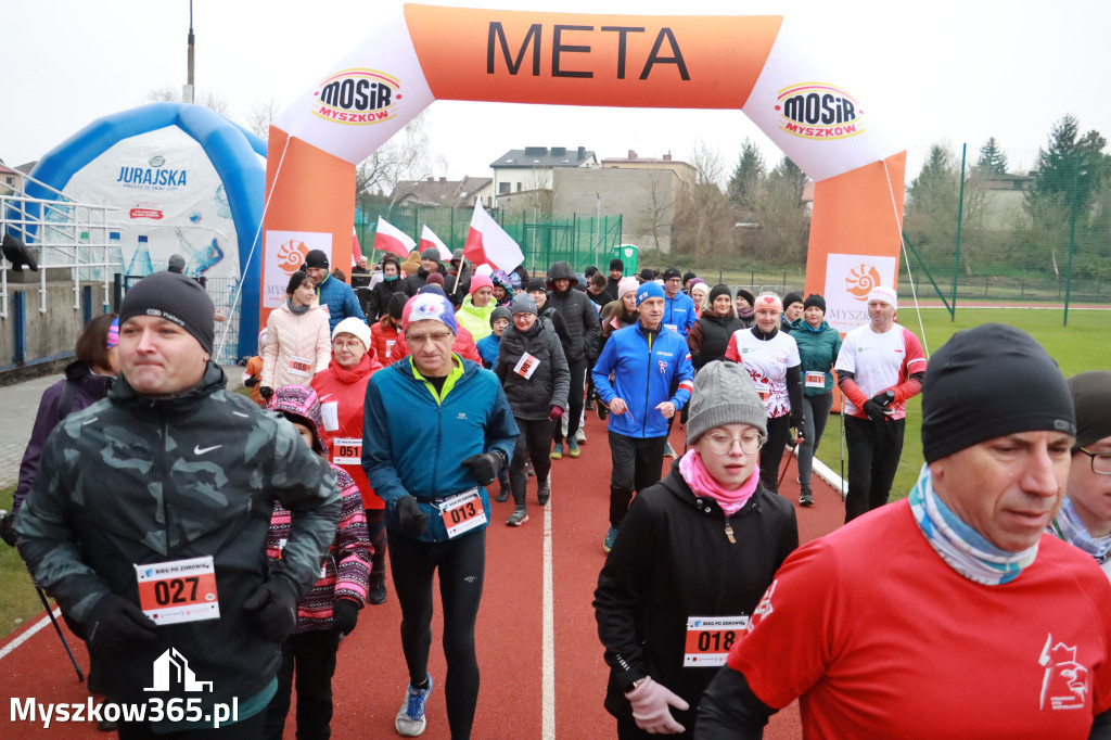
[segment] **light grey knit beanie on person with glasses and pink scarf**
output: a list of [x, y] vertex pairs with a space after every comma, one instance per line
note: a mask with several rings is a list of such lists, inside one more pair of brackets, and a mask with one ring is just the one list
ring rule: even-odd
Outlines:
[[735, 362], [710, 362], [694, 376], [687, 444], [723, 424], [750, 424], [768, 437], [768, 412], [749, 371]]

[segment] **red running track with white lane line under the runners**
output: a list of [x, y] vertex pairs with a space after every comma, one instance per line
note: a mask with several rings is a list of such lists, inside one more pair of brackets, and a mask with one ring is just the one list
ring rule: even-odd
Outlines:
[[[582, 457], [553, 463], [552, 498], [547, 512], [536, 503], [536, 479], [529, 481], [530, 519], [523, 527], [504, 526], [512, 501], [493, 504], [493, 521], [487, 530], [486, 590], [476, 629], [482, 671], [476, 739], [579, 740], [614, 734], [613, 719], [602, 707], [608, 668], [602, 661], [590, 606], [598, 571], [605, 558], [601, 541], [609, 526], [610, 471], [605, 427], [592, 413], [588, 414], [587, 434], [589, 441], [582, 446]], [[683, 447], [682, 434], [675, 424], [671, 439], [678, 450]], [[784, 462], [789, 459], [784, 456]], [[671, 460], [664, 459], [665, 470], [670, 464]], [[789, 464], [792, 469], [781, 489], [789, 500], [797, 502], [795, 463]], [[815, 506], [797, 509], [803, 542], [833, 530], [844, 518], [840, 494], [834, 489], [817, 476], [813, 488]], [[546, 582], [551, 584], [547, 603]], [[333, 738], [398, 737], [393, 716], [401, 706], [408, 677], [398, 638], [401, 614], [389, 581], [388, 587], [387, 602], [367, 607], [359, 627], [340, 646], [333, 683]], [[446, 666], [439, 644], [442, 634], [439, 604], [436, 610], [429, 671], [437, 686], [429, 700], [428, 729], [422, 737], [439, 740], [449, 733], [441, 690]], [[32, 620], [22, 632], [39, 621], [39, 618]], [[49, 623], [2, 654], [22, 632], [0, 641], [0, 698], [4, 703], [10, 704], [11, 697], [83, 703], [88, 697], [84, 686], [78, 683]], [[67, 639], [82, 670], [87, 670], [83, 643], [68, 631]], [[287, 738], [294, 734], [292, 717], [291, 710]], [[801, 734], [795, 703], [772, 718], [764, 737], [780, 740]], [[27, 722], [13, 723], [10, 707], [3, 707], [0, 737], [14, 740], [113, 736], [98, 732], [89, 723], [52, 724], [48, 730]]]

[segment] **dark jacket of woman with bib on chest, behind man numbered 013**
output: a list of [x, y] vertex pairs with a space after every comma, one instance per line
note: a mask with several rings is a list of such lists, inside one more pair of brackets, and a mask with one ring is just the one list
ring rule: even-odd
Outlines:
[[[540, 361], [528, 379], [513, 370], [526, 352]], [[513, 324], [506, 327], [493, 372], [506, 389], [509, 407], [518, 419], [547, 419], [553, 406], [567, 411], [571, 371], [563, 357], [563, 344], [547, 319], [537, 319], [526, 333]]]

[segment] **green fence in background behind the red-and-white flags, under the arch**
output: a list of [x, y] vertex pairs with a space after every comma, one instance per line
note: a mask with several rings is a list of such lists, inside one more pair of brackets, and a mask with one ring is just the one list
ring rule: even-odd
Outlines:
[[[378, 217], [408, 233], [416, 241], [427, 224], [450, 249], [461, 249], [470, 230], [471, 208], [441, 208], [422, 206], [382, 206], [364, 209], [356, 216], [356, 233], [364, 254], [370, 254], [374, 243]], [[512, 237], [524, 253], [524, 269], [529, 273], [543, 272], [558, 260], [565, 260], [582, 272], [594, 264], [604, 270], [610, 258], [618, 256], [621, 243], [621, 217], [594, 216], [536, 220], [529, 213], [506, 213], [493, 209], [490, 214]], [[380, 258], [381, 256], [377, 256]]]

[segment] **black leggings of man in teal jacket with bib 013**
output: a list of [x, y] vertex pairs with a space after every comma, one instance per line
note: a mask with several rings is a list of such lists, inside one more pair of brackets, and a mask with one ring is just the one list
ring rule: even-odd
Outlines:
[[451, 737], [471, 737], [474, 704], [479, 699], [479, 662], [474, 656], [474, 620], [482, 599], [486, 571], [486, 529], [447, 542], [422, 542], [387, 530], [393, 590], [401, 604], [401, 650], [409, 667], [409, 682], [428, 676], [432, 647], [432, 578], [440, 571], [443, 602], [443, 654], [448, 676], [443, 698], [448, 703]]

